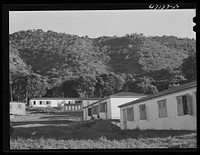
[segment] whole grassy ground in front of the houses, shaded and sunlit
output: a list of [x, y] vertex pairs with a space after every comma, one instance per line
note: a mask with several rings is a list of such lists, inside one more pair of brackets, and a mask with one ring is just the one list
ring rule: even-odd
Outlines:
[[196, 148], [195, 131], [120, 130], [111, 121], [81, 121], [82, 113], [38, 113], [13, 120], [11, 149]]

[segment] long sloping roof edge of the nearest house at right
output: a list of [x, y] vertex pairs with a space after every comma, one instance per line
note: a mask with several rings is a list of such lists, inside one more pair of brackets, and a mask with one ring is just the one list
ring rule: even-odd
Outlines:
[[180, 86], [177, 86], [177, 87], [173, 87], [173, 88], [161, 91], [157, 94], [152, 94], [152, 95], [137, 99], [135, 101], [131, 101], [131, 102], [119, 105], [118, 107], [121, 108], [121, 107], [124, 107], [124, 106], [127, 106], [127, 105], [132, 105], [132, 104], [136, 104], [136, 103], [146, 101], [146, 100], [149, 100], [149, 99], [154, 99], [154, 98], [157, 98], [157, 97], [160, 97], [160, 96], [163, 96], [163, 95], [179, 92], [179, 91], [182, 91], [182, 90], [185, 90], [185, 89], [196, 87], [196, 85], [197, 85], [196, 81], [193, 81], [193, 82], [190, 82], [190, 83], [187, 83], [187, 84], [184, 84], [184, 85], [180, 85]]

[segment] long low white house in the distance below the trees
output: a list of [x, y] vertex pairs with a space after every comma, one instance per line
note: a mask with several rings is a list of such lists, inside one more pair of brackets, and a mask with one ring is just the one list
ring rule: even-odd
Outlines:
[[66, 111], [82, 111], [84, 106], [98, 101], [99, 98], [32, 98], [31, 107], [65, 107]]

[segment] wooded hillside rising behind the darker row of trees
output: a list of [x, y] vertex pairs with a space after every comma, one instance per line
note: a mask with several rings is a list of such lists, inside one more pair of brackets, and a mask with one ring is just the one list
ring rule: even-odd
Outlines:
[[[128, 77], [132, 81], [143, 76], [156, 81], [169, 80], [171, 73], [180, 70], [183, 60], [196, 53], [196, 40], [174, 36], [145, 37], [133, 33], [91, 39], [39, 29], [19, 31], [9, 37], [10, 71], [14, 75], [20, 70], [38, 74], [46, 79], [49, 90], [62, 87], [55, 90], [64, 92], [64, 83], [67, 82], [69, 87], [75, 83], [76, 91], [83, 96], [88, 96], [88, 91], [102, 94], [109, 76], [121, 81], [116, 91], [124, 88], [123, 80], [126, 83]], [[122, 74], [126, 79], [119, 77]], [[87, 80], [84, 86], [80, 85], [80, 79]], [[91, 88], [84, 90], [90, 85]], [[129, 91], [133, 90], [129, 88]]]

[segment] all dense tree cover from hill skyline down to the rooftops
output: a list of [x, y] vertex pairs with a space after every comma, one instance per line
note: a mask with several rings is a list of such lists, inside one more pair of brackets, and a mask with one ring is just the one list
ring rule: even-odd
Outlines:
[[13, 33], [9, 40], [11, 100], [152, 94], [196, 79], [194, 39], [91, 39], [39, 29]]

